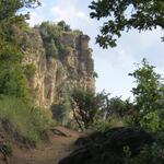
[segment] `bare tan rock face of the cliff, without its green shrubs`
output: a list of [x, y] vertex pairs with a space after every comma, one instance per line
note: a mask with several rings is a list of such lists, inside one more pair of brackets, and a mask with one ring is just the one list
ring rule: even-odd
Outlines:
[[24, 48], [23, 65], [35, 68], [28, 81], [37, 105], [49, 108], [73, 87], [95, 90], [94, 61], [87, 35], [62, 33], [60, 44], [71, 47], [62, 58], [47, 55], [38, 31], [27, 35], [33, 40], [33, 48]]

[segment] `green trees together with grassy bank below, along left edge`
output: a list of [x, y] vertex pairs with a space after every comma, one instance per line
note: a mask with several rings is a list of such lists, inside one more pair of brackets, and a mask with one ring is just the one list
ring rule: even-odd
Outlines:
[[[22, 66], [23, 49], [31, 48], [25, 23], [28, 14], [16, 12], [38, 4], [37, 0], [0, 0], [0, 120], [10, 122], [20, 136], [34, 143], [40, 141], [54, 121], [48, 110], [35, 107], [32, 102], [27, 78], [35, 73], [35, 67]], [[24, 33], [24, 45], [20, 45], [22, 38], [17, 32]]]

